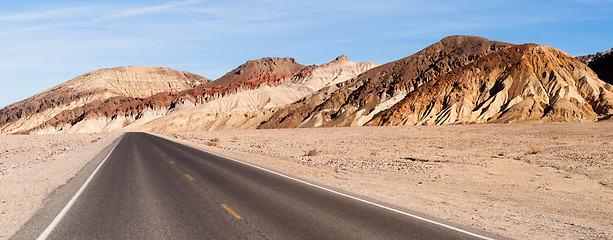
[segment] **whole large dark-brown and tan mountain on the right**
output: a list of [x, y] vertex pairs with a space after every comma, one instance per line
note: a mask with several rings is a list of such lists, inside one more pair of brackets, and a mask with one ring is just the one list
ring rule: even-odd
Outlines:
[[259, 128], [589, 121], [611, 85], [536, 44], [451, 36], [280, 108]]

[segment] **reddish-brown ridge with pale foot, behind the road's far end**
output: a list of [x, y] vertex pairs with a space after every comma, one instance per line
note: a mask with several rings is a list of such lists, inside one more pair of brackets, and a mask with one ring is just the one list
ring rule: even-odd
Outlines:
[[[309, 69], [312, 68], [304, 67], [291, 58], [248, 61], [218, 79], [216, 84], [213, 84], [214, 87], [207, 87], [210, 83], [204, 83], [142, 98], [114, 95], [93, 99], [89, 104], [74, 104], [73, 107], [48, 116], [45, 121], [29, 124], [28, 128], [22, 128], [18, 132], [105, 132], [132, 125], [134, 129], [137, 125], [165, 116], [176, 108], [203, 104], [260, 86], [276, 86], [289, 81], [294, 75], [308, 75]], [[225, 84], [219, 85], [222, 82]]]

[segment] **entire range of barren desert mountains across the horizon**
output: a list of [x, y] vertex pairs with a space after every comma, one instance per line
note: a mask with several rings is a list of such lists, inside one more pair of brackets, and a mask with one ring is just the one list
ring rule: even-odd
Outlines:
[[580, 57], [588, 67], [547, 46], [450, 36], [384, 65], [262, 58], [215, 81], [103, 69], [0, 110], [0, 133], [595, 121], [613, 114], [610, 56]]

